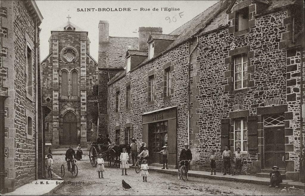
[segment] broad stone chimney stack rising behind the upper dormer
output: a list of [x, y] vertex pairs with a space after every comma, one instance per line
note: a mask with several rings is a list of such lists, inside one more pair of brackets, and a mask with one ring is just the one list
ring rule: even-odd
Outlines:
[[162, 28], [139, 27], [139, 50], [148, 50], [147, 40], [151, 34], [162, 34]]

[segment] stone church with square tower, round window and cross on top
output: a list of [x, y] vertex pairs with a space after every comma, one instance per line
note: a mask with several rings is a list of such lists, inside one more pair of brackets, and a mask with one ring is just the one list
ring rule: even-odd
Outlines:
[[98, 64], [90, 56], [88, 32], [67, 18], [51, 31], [49, 55], [41, 62], [43, 111], [50, 112], [44, 122], [45, 141], [54, 147], [87, 147], [97, 135], [93, 120], [98, 109], [92, 95]]

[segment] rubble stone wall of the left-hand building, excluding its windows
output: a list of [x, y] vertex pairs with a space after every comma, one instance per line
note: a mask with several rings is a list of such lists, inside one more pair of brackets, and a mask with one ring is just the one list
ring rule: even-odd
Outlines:
[[[23, 1], [2, 1], [1, 78], [9, 96], [5, 100], [5, 191], [35, 179], [35, 26]], [[32, 49], [32, 85], [26, 79], [27, 42]], [[39, 59], [38, 59], [39, 60]], [[27, 96], [32, 88], [32, 96]], [[32, 135], [27, 134], [27, 116], [32, 117]], [[3, 150], [3, 149], [1, 149]]]

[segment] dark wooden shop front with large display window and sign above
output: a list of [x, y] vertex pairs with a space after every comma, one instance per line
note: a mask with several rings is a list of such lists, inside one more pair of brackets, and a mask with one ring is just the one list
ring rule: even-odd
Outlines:
[[142, 114], [143, 142], [148, 145], [150, 163], [162, 163], [163, 146], [169, 151], [168, 165], [177, 165], [177, 107]]

